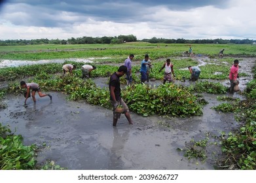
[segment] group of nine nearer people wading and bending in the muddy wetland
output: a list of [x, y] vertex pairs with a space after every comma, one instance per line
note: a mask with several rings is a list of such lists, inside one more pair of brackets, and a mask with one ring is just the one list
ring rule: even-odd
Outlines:
[[[223, 49], [224, 50], [224, 49]], [[124, 102], [124, 100], [121, 97], [121, 90], [120, 90], [120, 77], [123, 75], [126, 75], [126, 81], [127, 85], [132, 84], [132, 59], [134, 59], [134, 54], [130, 54], [130, 56], [125, 59], [124, 65], [121, 65], [119, 69], [113, 73], [109, 77], [109, 92], [110, 92], [110, 103], [113, 107], [113, 126], [117, 125], [117, 121], [120, 118], [120, 114], [123, 113], [129, 124], [134, 124], [134, 122], [131, 119], [129, 108]], [[234, 93], [234, 86], [238, 83], [237, 78], [238, 76], [238, 59], [234, 60], [234, 64], [230, 68], [230, 74], [229, 74], [229, 80], [230, 80], [230, 88], [229, 92]], [[62, 67], [63, 69], [63, 75], [65, 76], [65, 73], [70, 73], [72, 75], [72, 71], [76, 69], [75, 65], [71, 64], [65, 64]], [[81, 71], [82, 71], [82, 78], [90, 78], [91, 75], [90, 73], [96, 69], [95, 66], [93, 65], [82, 65]], [[149, 59], [149, 55], [146, 54], [145, 58], [141, 61], [141, 68], [140, 68], [140, 73], [141, 73], [141, 84], [145, 83], [147, 80], [149, 82], [149, 71], [151, 68], [151, 61]], [[163, 78], [163, 84], [166, 82], [174, 82], [174, 65], [171, 63], [171, 60], [168, 58], [166, 59], [166, 62], [162, 65], [162, 67], [159, 69], [159, 73], [164, 69], [164, 78]], [[196, 81], [198, 80], [200, 76], [200, 68], [198, 66], [189, 66], [188, 67], [189, 72], [191, 73], [191, 81]], [[50, 97], [50, 100], [52, 100], [52, 95], [50, 94], [43, 94], [41, 93], [41, 89], [37, 83], [31, 82], [31, 83], [26, 83], [24, 81], [20, 82], [20, 86], [22, 88], [26, 88], [27, 91], [24, 94], [25, 99], [25, 105], [27, 98], [30, 97], [30, 89], [32, 90], [32, 98], [34, 103], [36, 102], [35, 99], [35, 93], [38, 92], [40, 97], [45, 97], [48, 96]], [[122, 107], [122, 112], [119, 112], [116, 110], [118, 106]]]

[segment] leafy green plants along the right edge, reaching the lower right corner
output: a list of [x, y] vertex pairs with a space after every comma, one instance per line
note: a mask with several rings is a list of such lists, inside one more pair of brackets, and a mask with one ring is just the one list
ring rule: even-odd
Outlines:
[[[255, 77], [255, 67], [254, 67]], [[239, 101], [235, 118], [240, 123], [240, 129], [228, 133], [223, 139], [222, 151], [224, 157], [219, 159], [219, 169], [256, 169], [256, 99], [253, 93], [255, 79], [247, 85], [247, 99]], [[234, 108], [234, 107], [233, 107]]]

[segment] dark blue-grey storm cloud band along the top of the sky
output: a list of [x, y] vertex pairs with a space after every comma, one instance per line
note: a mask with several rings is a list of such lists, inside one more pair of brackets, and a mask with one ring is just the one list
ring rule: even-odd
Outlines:
[[[227, 1], [225, 1], [227, 3]], [[221, 0], [172, 0], [172, 1], [52, 1], [52, 0], [7, 0], [6, 5], [15, 7], [7, 14], [15, 12], [18, 17], [9, 16], [5, 19], [14, 25], [34, 25], [43, 27], [62, 27], [63, 25], [79, 24], [87, 18], [97, 21], [111, 22], [147, 22], [147, 10], [162, 6], [173, 10], [185, 10], [211, 5], [222, 7]], [[69, 16], [63, 16], [66, 12]]]

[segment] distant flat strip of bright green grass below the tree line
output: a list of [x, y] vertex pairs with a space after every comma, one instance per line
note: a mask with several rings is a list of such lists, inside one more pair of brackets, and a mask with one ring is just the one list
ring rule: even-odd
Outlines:
[[[217, 57], [225, 48], [225, 56], [255, 57], [256, 46], [252, 44], [193, 44], [194, 54]], [[189, 50], [189, 44], [151, 44], [129, 42], [124, 44], [41, 44], [26, 46], [0, 46], [1, 59], [39, 60], [56, 58], [113, 58], [123, 59], [134, 54], [141, 60], [145, 54], [151, 59], [181, 56]]]

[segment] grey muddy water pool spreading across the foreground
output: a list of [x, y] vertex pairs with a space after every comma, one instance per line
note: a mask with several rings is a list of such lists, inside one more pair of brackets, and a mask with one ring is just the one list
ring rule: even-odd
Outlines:
[[[105, 87], [107, 79], [94, 81]], [[158, 85], [160, 81], [151, 84]], [[51, 94], [52, 101], [36, 94], [37, 103], [34, 105], [29, 99], [27, 108], [23, 107], [24, 97], [8, 95], [1, 101], [8, 108], [0, 109], [0, 122], [21, 134], [24, 144], [39, 146], [39, 163], [52, 159], [67, 169], [214, 169], [216, 159], [221, 156], [221, 133], [238, 127], [234, 114], [211, 109], [222, 103], [217, 101], [217, 95], [204, 94], [209, 104], [204, 106], [202, 116], [143, 118], [131, 112], [134, 125], [129, 125], [122, 115], [113, 127], [111, 110], [69, 101], [59, 92]], [[242, 98], [238, 93], [234, 97]], [[206, 137], [208, 158], [204, 162], [189, 160], [177, 151], [185, 148], [185, 142]]]

